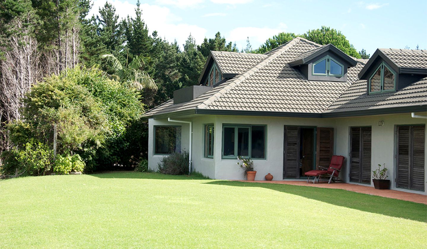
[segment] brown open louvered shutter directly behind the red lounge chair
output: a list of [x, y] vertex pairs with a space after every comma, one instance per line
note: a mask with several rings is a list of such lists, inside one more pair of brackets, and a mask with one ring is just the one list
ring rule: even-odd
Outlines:
[[333, 155], [333, 128], [317, 128], [316, 167], [329, 167]]

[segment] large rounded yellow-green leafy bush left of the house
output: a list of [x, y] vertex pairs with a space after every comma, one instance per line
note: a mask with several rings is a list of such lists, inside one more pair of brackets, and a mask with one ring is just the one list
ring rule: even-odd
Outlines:
[[99, 165], [125, 164], [121, 153], [129, 144], [124, 135], [143, 111], [139, 97], [135, 89], [109, 79], [98, 68], [63, 70], [25, 95], [22, 121], [7, 126], [10, 140], [17, 152], [25, 151], [30, 140], [53, 147], [56, 124], [58, 155], [79, 154], [90, 171], [106, 169]]

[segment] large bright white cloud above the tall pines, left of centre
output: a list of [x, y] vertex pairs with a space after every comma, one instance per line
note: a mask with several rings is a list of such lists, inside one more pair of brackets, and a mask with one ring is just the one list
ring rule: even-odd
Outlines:
[[[136, 5], [120, 0], [109, 0], [108, 2], [116, 8], [116, 15], [119, 15], [120, 18], [126, 18], [128, 15], [135, 17]], [[99, 7], [104, 6], [104, 4], [105, 0], [94, 0], [94, 6], [88, 16], [99, 15]], [[147, 24], [150, 34], [157, 30], [160, 37], [165, 37], [170, 42], [176, 39], [179, 45], [185, 43], [190, 33], [197, 43], [201, 43], [206, 36], [206, 29], [197, 25], [181, 23], [182, 19], [171, 13], [167, 7], [143, 3], [140, 8], [142, 18]]]

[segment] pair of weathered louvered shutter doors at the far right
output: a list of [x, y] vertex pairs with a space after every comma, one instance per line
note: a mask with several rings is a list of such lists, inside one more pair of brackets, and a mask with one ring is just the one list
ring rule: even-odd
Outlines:
[[424, 191], [425, 126], [398, 126], [396, 133], [396, 186]]

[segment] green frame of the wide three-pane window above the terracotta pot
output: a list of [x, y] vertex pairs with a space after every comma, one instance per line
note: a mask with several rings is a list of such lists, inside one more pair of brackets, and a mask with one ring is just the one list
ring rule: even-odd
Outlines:
[[[260, 130], [260, 128], [262, 128]], [[234, 129], [234, 138], [232, 138], [232, 141], [234, 143], [233, 146], [228, 146], [228, 148], [233, 149], [233, 155], [224, 155], [225, 154], [225, 129], [229, 129], [229, 131], [233, 131]], [[242, 144], [239, 144], [239, 129], [245, 130], [247, 129], [248, 132], [248, 138], [247, 138], [247, 153], [246, 155], [238, 155], [239, 151], [239, 145], [242, 147]], [[257, 148], [254, 148], [255, 144], [253, 143], [253, 139], [256, 139], [256, 135], [254, 135], [254, 132], [263, 132], [263, 138], [261, 139], [261, 144], [263, 148], [261, 150], [258, 149], [258, 154], [262, 155], [256, 155]], [[259, 141], [258, 141], [259, 142]], [[253, 146], [254, 145], [254, 146]], [[240, 149], [242, 151], [243, 149]], [[221, 149], [221, 156], [222, 159], [236, 159], [237, 156], [241, 156], [242, 158], [251, 158], [251, 159], [266, 159], [267, 155], [267, 126], [266, 125], [239, 125], [239, 124], [225, 124], [222, 126], [222, 149]]]

